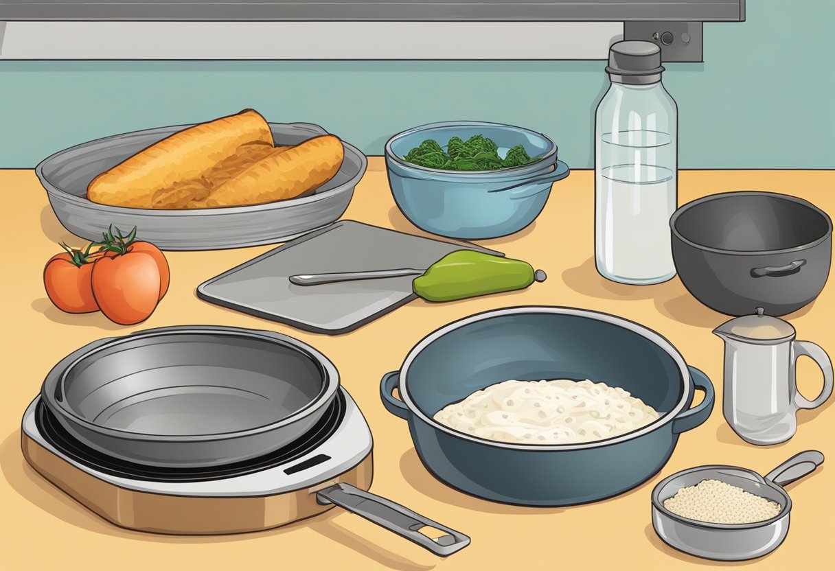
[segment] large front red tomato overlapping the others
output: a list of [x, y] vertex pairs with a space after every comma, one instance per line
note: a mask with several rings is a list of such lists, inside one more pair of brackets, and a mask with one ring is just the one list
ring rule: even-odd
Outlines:
[[102, 313], [119, 325], [135, 325], [154, 313], [161, 281], [154, 256], [128, 251], [96, 260], [92, 272], [93, 295]]

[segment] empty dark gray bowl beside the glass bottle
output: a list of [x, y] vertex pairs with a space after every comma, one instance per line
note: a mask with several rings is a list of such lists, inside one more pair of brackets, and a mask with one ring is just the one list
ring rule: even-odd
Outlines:
[[729, 316], [784, 316], [826, 285], [832, 220], [796, 196], [729, 192], [694, 200], [670, 219], [673, 261], [687, 291]]

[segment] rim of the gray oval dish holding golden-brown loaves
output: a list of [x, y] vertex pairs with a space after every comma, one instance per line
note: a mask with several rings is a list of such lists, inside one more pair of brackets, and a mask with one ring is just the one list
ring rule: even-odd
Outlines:
[[[276, 125], [277, 123], [268, 123], [268, 125]], [[49, 187], [53, 187], [58, 189], [58, 186], [50, 181], [46, 175], [43, 174], [43, 165], [48, 164], [49, 161], [54, 160], [60, 157], [63, 154], [69, 153], [71, 151], [78, 150], [83, 148], [87, 145], [94, 144], [94, 143], [104, 143], [109, 139], [118, 139], [119, 137], [127, 137], [127, 136], [141, 136], [154, 133], [158, 131], [159, 133], [167, 133], [167, 134], [175, 134], [180, 132], [183, 129], [188, 129], [190, 127], [194, 127], [195, 124], [185, 124], [185, 125], [170, 125], [168, 127], [155, 127], [154, 129], [142, 129], [139, 131], [130, 131], [129, 133], [120, 133], [109, 135], [107, 137], [102, 137], [100, 139], [93, 139], [91, 141], [87, 141], [86, 143], [80, 143], [69, 147], [68, 149], [59, 150], [57, 153], [50, 154], [46, 159], [43, 159], [38, 165], [35, 167], [35, 174], [38, 176], [38, 179], [43, 182], [47, 182]], [[281, 125], [293, 125], [293, 123], [281, 124]], [[174, 130], [170, 130], [174, 129]], [[308, 131], [314, 136], [321, 135], [317, 131], [306, 127], [298, 127], [300, 130]], [[220, 215], [220, 214], [238, 214], [238, 213], [246, 213], [251, 212], [253, 210], [280, 210], [283, 208], [289, 208], [294, 205], [305, 205], [312, 202], [317, 202], [319, 200], [324, 200], [331, 195], [341, 194], [348, 189], [353, 189], [354, 186], [362, 179], [363, 174], [365, 174], [368, 168], [368, 159], [365, 154], [362, 154], [357, 147], [354, 145], [347, 143], [346, 141], [339, 139], [342, 141], [342, 145], [345, 149], [350, 150], [352, 154], [359, 159], [360, 168], [357, 174], [354, 174], [350, 179], [346, 182], [340, 184], [337, 188], [334, 189], [327, 189], [321, 193], [304, 196], [301, 198], [294, 198], [288, 200], [274, 200], [272, 202], [265, 202], [260, 205], [246, 205], [246, 206], [225, 206], [220, 208], [195, 208], [195, 209], [155, 209], [155, 208], [132, 208], [128, 206], [114, 206], [114, 205], [103, 205], [98, 202], [93, 202], [92, 200], [87, 200], [81, 196], [72, 195], [66, 191], [58, 189], [58, 192], [53, 191], [52, 189], [48, 188], [44, 185], [47, 193], [50, 195], [60, 196], [62, 200], [67, 200], [75, 205], [85, 206], [90, 208], [91, 206], [95, 210], [102, 210], [103, 212], [109, 212], [111, 210], [118, 210], [119, 212], [124, 212], [126, 214], [134, 214], [134, 215], [158, 215], [158, 216], [210, 216], [210, 215]], [[342, 167], [340, 167], [342, 168]]]

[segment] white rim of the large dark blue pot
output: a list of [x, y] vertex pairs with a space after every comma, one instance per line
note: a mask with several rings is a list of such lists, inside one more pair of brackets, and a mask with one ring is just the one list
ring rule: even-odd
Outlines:
[[[433, 418], [430, 418], [426, 414], [424, 414], [423, 410], [421, 410], [420, 407], [417, 407], [417, 405], [412, 401], [412, 397], [411, 395], [409, 395], [407, 372], [409, 366], [412, 365], [412, 361], [414, 361], [415, 357], [421, 351], [423, 351], [423, 349], [425, 349], [430, 343], [432, 343], [433, 341], [437, 341], [438, 339], [440, 339], [441, 337], [443, 337], [451, 331], [455, 331], [463, 326], [469, 325], [471, 323], [476, 323], [478, 321], [485, 321], [498, 316], [542, 313], [563, 316], [567, 315], [587, 317], [590, 319], [594, 319], [595, 321], [604, 321], [606, 323], [610, 323], [611, 325], [623, 327], [629, 331], [637, 333], [642, 337], [645, 337], [650, 341], [653, 341], [656, 345], [664, 349], [667, 352], [667, 354], [669, 354], [672, 357], [673, 361], [676, 361], [676, 365], [678, 365], [679, 371], [681, 372], [681, 378], [684, 381], [685, 387], [684, 394], [679, 399], [679, 402], [678, 404], [676, 404], [676, 407], [673, 407], [673, 409], [670, 412], [667, 412], [665, 415], [658, 418], [654, 422], [650, 422], [650, 424], [646, 425], [645, 427], [642, 427], [639, 430], [635, 430], [632, 432], [626, 432], [625, 434], [622, 434], [619, 437], [607, 438], [605, 440], [596, 440], [594, 442], [584, 442], [580, 444], [512, 444], [509, 442], [498, 442], [495, 440], [488, 440], [487, 438], [472, 437], [468, 434], [464, 434], [463, 432], [458, 432], [453, 430], [452, 428], [445, 427], [443, 426], [443, 424], [436, 422]], [[679, 412], [681, 412], [684, 409], [685, 403], [687, 402], [688, 397], [690, 396], [691, 388], [693, 387], [692, 382], [687, 382], [688, 380], [690, 380], [690, 371], [687, 369], [684, 357], [681, 356], [681, 353], [679, 353], [679, 351], [676, 350], [676, 347], [674, 347], [670, 341], [667, 341], [667, 339], [665, 339], [664, 336], [661, 336], [660, 333], [652, 331], [651, 329], [648, 329], [647, 327], [642, 326], [640, 325], [640, 323], [636, 323], [635, 321], [629, 321], [622, 317], [612, 316], [608, 313], [603, 313], [600, 311], [581, 310], [573, 307], [562, 306], [507, 307], [500, 310], [483, 311], [482, 313], [477, 313], [473, 316], [464, 317], [463, 319], [460, 319], [458, 321], [453, 321], [452, 323], [433, 331], [428, 336], [423, 337], [423, 339], [412, 348], [412, 351], [409, 351], [408, 355], [406, 356], [406, 360], [403, 361], [403, 364], [400, 367], [400, 379], [401, 385], [399, 391], [402, 397], [402, 401], [406, 404], [409, 410], [412, 411], [413, 414], [416, 414], [417, 417], [420, 417], [421, 420], [423, 420], [423, 422], [427, 422], [436, 430], [446, 432], [450, 436], [457, 437], [468, 442], [477, 442], [478, 444], [492, 447], [508, 448], [509, 450], [526, 450], [529, 452], [554, 452], [558, 450], [585, 450], [588, 448], [602, 448], [643, 436], [644, 434], [653, 432], [656, 428], [665, 425], [667, 422], [672, 422], [676, 418], [676, 416], [678, 416]], [[402, 383], [403, 380], [406, 380], [405, 385]]]

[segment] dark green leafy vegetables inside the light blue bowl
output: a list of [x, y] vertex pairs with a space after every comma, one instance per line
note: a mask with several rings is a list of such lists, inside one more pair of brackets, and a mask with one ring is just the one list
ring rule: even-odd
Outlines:
[[539, 157], [532, 159], [524, 147], [517, 144], [502, 159], [498, 156], [498, 145], [492, 139], [477, 134], [466, 141], [453, 137], [449, 139], [446, 148], [434, 139], [427, 139], [410, 150], [403, 159], [429, 169], [498, 170], [533, 163]]

